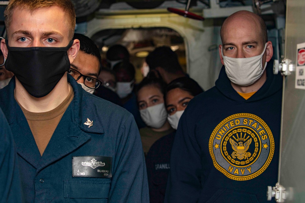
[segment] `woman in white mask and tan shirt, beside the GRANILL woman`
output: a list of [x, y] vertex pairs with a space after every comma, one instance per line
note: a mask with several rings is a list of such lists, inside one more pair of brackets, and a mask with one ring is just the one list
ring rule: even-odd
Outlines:
[[165, 86], [161, 79], [150, 73], [137, 87], [138, 108], [142, 120], [147, 125], [139, 130], [145, 156], [156, 140], [174, 131], [167, 121], [163, 99]]

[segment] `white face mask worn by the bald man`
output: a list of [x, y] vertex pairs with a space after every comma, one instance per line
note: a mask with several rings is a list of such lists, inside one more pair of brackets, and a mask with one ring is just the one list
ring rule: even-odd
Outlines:
[[250, 58], [231, 58], [224, 56], [221, 47], [225, 71], [230, 81], [239, 86], [248, 86], [260, 79], [267, 66], [267, 62], [265, 62], [264, 68], [262, 64], [266, 47], [267, 43], [262, 54]]

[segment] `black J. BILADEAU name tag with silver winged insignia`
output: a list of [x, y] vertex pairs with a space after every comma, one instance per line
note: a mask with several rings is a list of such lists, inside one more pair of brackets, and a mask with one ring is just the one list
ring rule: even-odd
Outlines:
[[73, 177], [111, 178], [112, 157], [74, 156], [72, 157]]

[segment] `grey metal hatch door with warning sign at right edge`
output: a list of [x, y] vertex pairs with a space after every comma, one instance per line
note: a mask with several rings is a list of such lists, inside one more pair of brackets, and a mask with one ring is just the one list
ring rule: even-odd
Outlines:
[[[285, 30], [285, 59], [290, 59], [296, 67], [297, 44], [305, 43], [305, 0], [287, 0]], [[294, 69], [290, 75], [284, 77], [278, 183], [286, 189], [285, 202], [304, 203], [305, 86], [303, 85], [304, 89], [295, 88], [296, 75], [300, 77], [300, 74], [302, 75]]]

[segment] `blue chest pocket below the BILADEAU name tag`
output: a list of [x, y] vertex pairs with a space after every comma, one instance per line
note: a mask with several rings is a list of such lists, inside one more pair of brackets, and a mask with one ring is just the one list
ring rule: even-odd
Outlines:
[[101, 180], [64, 180], [63, 191], [67, 203], [107, 202], [110, 179]]

